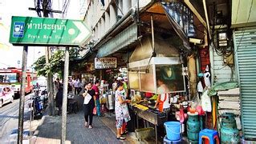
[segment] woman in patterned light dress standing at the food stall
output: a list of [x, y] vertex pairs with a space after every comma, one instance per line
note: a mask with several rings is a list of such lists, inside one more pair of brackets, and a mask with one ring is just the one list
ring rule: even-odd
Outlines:
[[130, 114], [128, 112], [127, 103], [131, 102], [126, 99], [124, 95], [124, 84], [123, 82], [117, 82], [117, 90], [115, 96], [115, 112], [116, 112], [116, 138], [124, 140], [125, 138], [121, 136], [121, 128], [123, 122], [128, 122], [131, 120]]

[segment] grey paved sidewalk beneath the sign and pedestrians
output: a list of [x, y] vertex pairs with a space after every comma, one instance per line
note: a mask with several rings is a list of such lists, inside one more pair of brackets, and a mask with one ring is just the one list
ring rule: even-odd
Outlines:
[[[116, 139], [115, 119], [113, 117], [93, 117], [92, 129], [84, 127], [83, 98], [75, 97], [79, 102], [77, 114], [67, 114], [67, 142], [66, 143], [136, 143], [129, 135], [126, 140]], [[108, 114], [107, 114], [108, 115]], [[52, 144], [60, 143], [61, 139], [61, 116], [49, 116], [45, 114], [41, 125], [35, 130], [36, 138], [32, 143]]]

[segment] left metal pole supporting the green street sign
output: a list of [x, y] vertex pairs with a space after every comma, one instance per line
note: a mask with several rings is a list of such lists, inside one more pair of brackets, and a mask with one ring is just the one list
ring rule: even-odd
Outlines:
[[27, 46], [23, 46], [22, 84], [21, 84], [19, 110], [18, 110], [18, 144], [22, 144], [22, 138], [23, 138], [22, 133], [23, 133], [23, 115], [24, 115], [24, 103], [25, 103], [26, 59], [27, 59]]

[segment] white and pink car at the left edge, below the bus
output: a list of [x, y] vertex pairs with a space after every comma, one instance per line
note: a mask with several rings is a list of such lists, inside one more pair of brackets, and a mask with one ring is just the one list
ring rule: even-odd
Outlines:
[[14, 102], [14, 90], [10, 86], [0, 86], [0, 108], [9, 102]]

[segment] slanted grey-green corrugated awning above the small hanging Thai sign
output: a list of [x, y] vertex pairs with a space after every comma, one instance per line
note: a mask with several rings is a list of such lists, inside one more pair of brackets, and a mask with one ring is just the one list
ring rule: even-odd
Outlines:
[[109, 54], [113, 54], [118, 50], [121, 50], [125, 46], [136, 42], [137, 40], [137, 28], [136, 23], [133, 23], [131, 26], [128, 26], [125, 30], [123, 30], [120, 34], [117, 34], [116, 37], [109, 40], [104, 45], [100, 46], [97, 58], [102, 58], [108, 56]]

